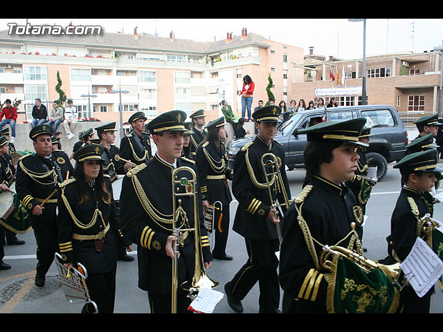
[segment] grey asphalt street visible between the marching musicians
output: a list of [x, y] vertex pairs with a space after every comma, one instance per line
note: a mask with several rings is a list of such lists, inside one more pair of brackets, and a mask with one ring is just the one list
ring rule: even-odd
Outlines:
[[[372, 190], [368, 203], [368, 221], [365, 225], [363, 245], [368, 248], [369, 259], [386, 257], [387, 243], [385, 237], [390, 230], [390, 214], [399, 193], [400, 176], [397, 169], [390, 164], [386, 178]], [[304, 170], [288, 172], [291, 195], [296, 196], [305, 177]], [[231, 204], [231, 222], [237, 203]], [[443, 204], [435, 207], [435, 219], [443, 219]], [[37, 288], [34, 285], [35, 275], [35, 239], [32, 230], [19, 235], [26, 240], [24, 246], [6, 246], [4, 261], [12, 266], [10, 270], [0, 271], [0, 313], [80, 313], [82, 304], [71, 304], [66, 301], [60, 281], [57, 279], [55, 264], [46, 277], [46, 285]], [[217, 291], [224, 293], [224, 284], [233, 277], [246, 261], [244, 240], [238, 234], [230, 232], [227, 253], [233, 261], [213, 261], [208, 275], [220, 284]], [[136, 255], [136, 252], [132, 252]], [[137, 288], [137, 262], [118, 261], [116, 313], [149, 313], [147, 295]], [[258, 286], [243, 301], [244, 313], [258, 312]], [[436, 288], [432, 300], [432, 313], [443, 312], [443, 295]], [[233, 313], [226, 303], [226, 297], [215, 308], [214, 313]]]

